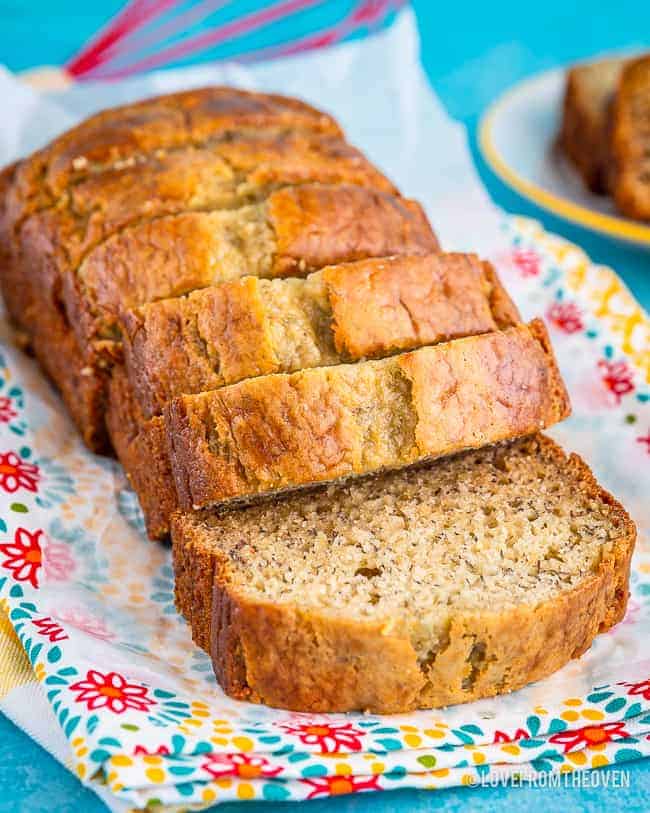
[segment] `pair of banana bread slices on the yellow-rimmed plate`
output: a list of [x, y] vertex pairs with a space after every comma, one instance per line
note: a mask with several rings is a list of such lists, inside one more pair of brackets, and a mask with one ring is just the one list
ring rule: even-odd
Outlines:
[[650, 221], [650, 54], [568, 71], [560, 145], [592, 192]]

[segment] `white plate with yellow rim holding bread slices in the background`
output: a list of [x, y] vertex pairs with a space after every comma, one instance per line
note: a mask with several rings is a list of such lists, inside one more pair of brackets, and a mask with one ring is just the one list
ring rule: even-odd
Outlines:
[[494, 172], [521, 195], [592, 231], [650, 248], [650, 226], [622, 217], [610, 198], [593, 195], [556, 146], [565, 71], [515, 85], [483, 116], [481, 152]]

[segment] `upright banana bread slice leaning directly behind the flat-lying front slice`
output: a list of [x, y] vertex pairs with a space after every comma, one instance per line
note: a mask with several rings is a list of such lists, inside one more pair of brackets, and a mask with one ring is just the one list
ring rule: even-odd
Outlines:
[[182, 509], [530, 434], [569, 414], [541, 320], [381, 361], [247, 379], [164, 417]]

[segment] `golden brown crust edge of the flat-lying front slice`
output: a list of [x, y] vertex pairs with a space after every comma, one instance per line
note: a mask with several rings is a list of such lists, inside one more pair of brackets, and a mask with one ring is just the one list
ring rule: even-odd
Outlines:
[[614, 544], [595, 573], [552, 600], [456, 616], [436, 657], [421, 666], [408, 637], [385, 625], [247, 599], [211, 544], [214, 529], [200, 515], [177, 514], [177, 606], [212, 654], [225, 691], [299, 711], [399, 713], [513, 691], [581, 655], [625, 613], [636, 529], [577, 455], [567, 458], [543, 436], [527, 444], [562, 465], [577, 489], [613, 507]]

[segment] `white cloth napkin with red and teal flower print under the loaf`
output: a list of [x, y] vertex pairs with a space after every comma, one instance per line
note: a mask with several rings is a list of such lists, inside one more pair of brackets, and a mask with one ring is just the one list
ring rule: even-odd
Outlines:
[[[119, 466], [82, 448], [33, 362], [4, 344], [0, 609], [33, 677], [23, 670], [0, 706], [20, 721], [14, 704], [36, 680], [72, 769], [115, 809], [437, 788], [650, 755], [650, 321], [611, 271], [532, 221], [506, 220], [493, 259], [552, 331], [574, 404], [554, 434], [624, 501], [640, 544], [625, 620], [587, 655], [448, 709], [305, 715], [225, 697]], [[20, 649], [5, 636], [11, 666]]]

